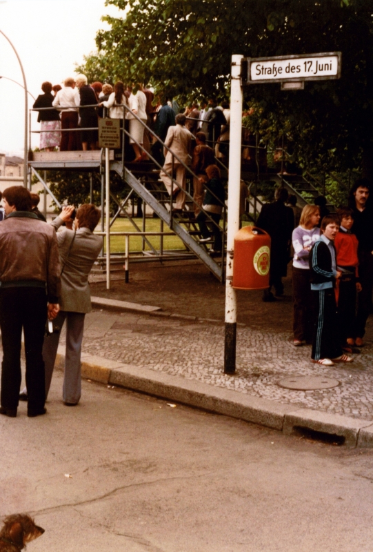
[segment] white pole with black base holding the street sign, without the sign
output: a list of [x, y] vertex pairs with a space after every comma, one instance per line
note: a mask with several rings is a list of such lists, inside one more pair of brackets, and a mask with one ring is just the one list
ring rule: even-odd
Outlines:
[[241, 128], [243, 93], [241, 88], [241, 61], [243, 56], [232, 56], [230, 89], [230, 157], [228, 178], [227, 266], [225, 282], [225, 345], [224, 373], [236, 371], [236, 290], [232, 288], [234, 236], [239, 231], [239, 199], [241, 179]]

